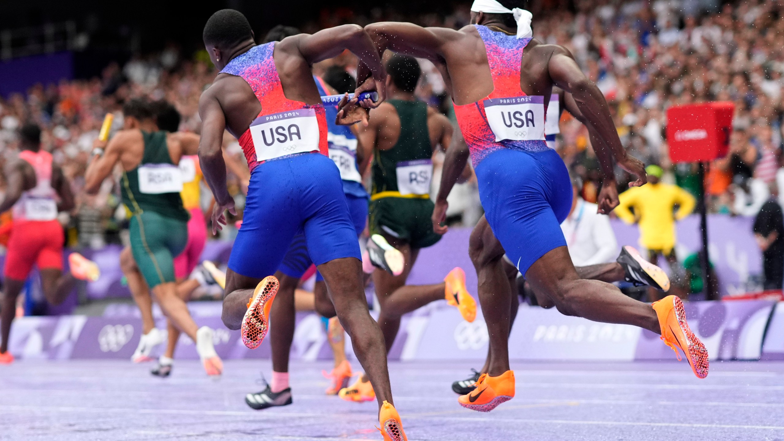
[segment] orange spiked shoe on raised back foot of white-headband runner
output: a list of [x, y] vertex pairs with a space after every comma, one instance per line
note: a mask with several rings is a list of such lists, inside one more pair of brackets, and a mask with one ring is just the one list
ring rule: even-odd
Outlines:
[[653, 310], [659, 316], [659, 326], [662, 326], [662, 341], [675, 351], [677, 359], [681, 360], [678, 348], [684, 352], [691, 370], [698, 378], [708, 376], [708, 350], [705, 344], [691, 332], [686, 323], [684, 303], [675, 296], [664, 297], [652, 304]]

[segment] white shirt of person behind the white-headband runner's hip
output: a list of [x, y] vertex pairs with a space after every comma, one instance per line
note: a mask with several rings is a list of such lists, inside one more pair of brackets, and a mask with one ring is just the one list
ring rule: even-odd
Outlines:
[[575, 210], [561, 224], [575, 267], [606, 264], [618, 257], [618, 241], [610, 218], [597, 213], [597, 208], [596, 204], [577, 198]]

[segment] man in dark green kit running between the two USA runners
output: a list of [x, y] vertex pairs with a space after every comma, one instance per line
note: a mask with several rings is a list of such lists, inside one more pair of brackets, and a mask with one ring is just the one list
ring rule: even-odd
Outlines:
[[[413, 56], [396, 54], [387, 62], [389, 100], [370, 111], [369, 125], [360, 128], [362, 145], [372, 147], [372, 195], [368, 249], [394, 246], [403, 253], [405, 266], [401, 274], [376, 268], [373, 284], [381, 312], [379, 326], [389, 352], [401, 316], [432, 301], [446, 299], [459, 308], [463, 318], [474, 321], [477, 305], [466, 291], [465, 273], [455, 268], [445, 282], [433, 285], [406, 286], [405, 281], [416, 263], [419, 250], [433, 246], [441, 235], [433, 231], [430, 217], [430, 158], [441, 145], [447, 150], [452, 142], [452, 124], [448, 118], [414, 96], [422, 71]], [[348, 401], [370, 401], [373, 390], [364, 376], [339, 392]]]

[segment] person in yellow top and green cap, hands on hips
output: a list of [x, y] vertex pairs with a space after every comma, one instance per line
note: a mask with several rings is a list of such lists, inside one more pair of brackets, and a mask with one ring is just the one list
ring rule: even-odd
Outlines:
[[[645, 171], [648, 184], [621, 193], [615, 213], [627, 224], [640, 225], [640, 245], [648, 250], [648, 261], [658, 264], [659, 255], [662, 255], [673, 275], [677, 275], [681, 268], [675, 256], [675, 221], [691, 214], [696, 201], [683, 188], [660, 182], [661, 167], [648, 166]], [[678, 207], [677, 212], [675, 207]], [[648, 295], [655, 301], [659, 292], [648, 290]]]

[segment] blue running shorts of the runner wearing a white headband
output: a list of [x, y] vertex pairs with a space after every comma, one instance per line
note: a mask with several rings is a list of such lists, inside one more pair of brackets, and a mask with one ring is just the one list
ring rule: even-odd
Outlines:
[[561, 222], [572, 210], [572, 183], [556, 151], [502, 148], [476, 173], [485, 217], [517, 271], [525, 275], [539, 257], [566, 246]]

